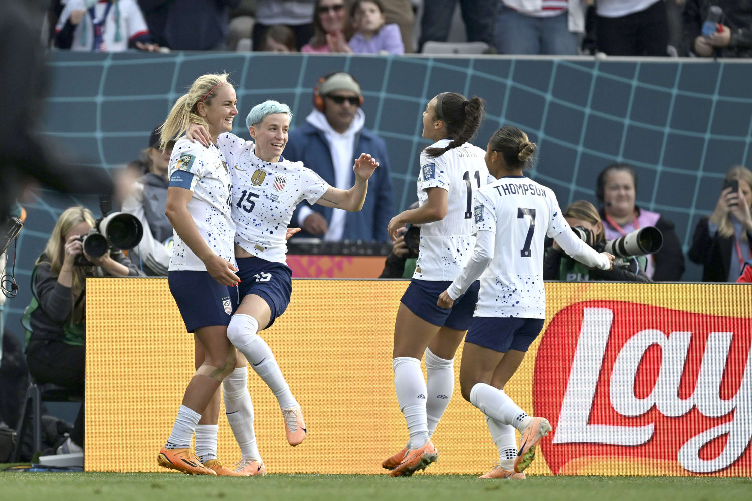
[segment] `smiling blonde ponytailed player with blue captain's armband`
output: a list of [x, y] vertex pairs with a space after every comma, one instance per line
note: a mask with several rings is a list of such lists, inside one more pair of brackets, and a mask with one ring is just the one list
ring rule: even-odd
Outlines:
[[[232, 130], [238, 114], [236, 102], [227, 74], [197, 78], [165, 120], [161, 148], [191, 121], [202, 122], [216, 141], [222, 132]], [[228, 204], [232, 181], [216, 145], [203, 148], [184, 137], [174, 145], [168, 174], [166, 213], [174, 228], [169, 286], [186, 329], [202, 345], [204, 358], [186, 388], [157, 461], [159, 466], [190, 475], [217, 475], [190, 451], [190, 440], [202, 412], [236, 364], [236, 352], [226, 334], [232, 313], [227, 286], [240, 280], [235, 275], [235, 223]]]

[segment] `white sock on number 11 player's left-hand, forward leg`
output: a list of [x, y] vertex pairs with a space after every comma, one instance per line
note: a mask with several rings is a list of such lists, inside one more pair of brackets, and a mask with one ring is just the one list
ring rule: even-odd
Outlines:
[[392, 360], [394, 388], [399, 410], [405, 415], [410, 441], [408, 448], [422, 447], [428, 442], [426, 421], [426, 381], [420, 370], [420, 360], [412, 357], [397, 357]]

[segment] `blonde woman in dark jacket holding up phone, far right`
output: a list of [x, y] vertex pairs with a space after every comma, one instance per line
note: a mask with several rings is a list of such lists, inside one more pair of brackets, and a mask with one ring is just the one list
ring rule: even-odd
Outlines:
[[738, 191], [724, 188], [710, 217], [697, 223], [689, 257], [702, 264], [703, 282], [736, 282], [744, 261], [752, 259], [752, 172], [738, 165], [726, 181], [738, 181]]

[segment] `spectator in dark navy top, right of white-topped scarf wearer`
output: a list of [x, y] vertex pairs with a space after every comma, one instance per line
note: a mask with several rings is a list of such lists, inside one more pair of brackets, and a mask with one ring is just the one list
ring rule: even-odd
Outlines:
[[229, 10], [241, 0], [138, 0], [156, 41], [172, 50], [225, 50]]

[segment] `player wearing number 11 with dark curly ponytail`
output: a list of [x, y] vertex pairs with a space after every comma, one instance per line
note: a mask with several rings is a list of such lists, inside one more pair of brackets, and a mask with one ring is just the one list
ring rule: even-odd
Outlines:
[[[472, 249], [473, 192], [488, 180], [484, 150], [468, 141], [483, 115], [481, 98], [441, 92], [423, 111], [423, 137], [433, 144], [420, 154], [420, 206], [395, 216], [387, 228], [394, 241], [407, 223], [420, 225], [413, 278], [397, 309], [392, 367], [399, 409], [410, 439], [381, 463], [391, 476], [412, 475], [438, 458], [430, 437], [454, 389], [454, 352], [465, 336], [478, 298], [478, 282], [452, 309], [436, 306]], [[426, 354], [428, 382], [420, 359]]]

